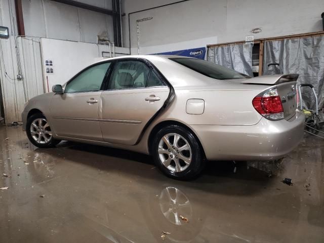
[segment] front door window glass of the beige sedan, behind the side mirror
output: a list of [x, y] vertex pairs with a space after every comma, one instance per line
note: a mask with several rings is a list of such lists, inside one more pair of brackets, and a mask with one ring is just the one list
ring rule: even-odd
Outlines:
[[64, 93], [99, 91], [110, 62], [88, 68], [69, 82]]

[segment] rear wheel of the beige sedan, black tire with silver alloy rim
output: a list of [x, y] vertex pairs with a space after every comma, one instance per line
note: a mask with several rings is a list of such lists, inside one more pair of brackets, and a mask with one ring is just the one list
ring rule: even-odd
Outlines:
[[156, 166], [164, 174], [179, 180], [196, 178], [205, 165], [195, 136], [178, 125], [170, 125], [157, 132], [153, 139], [152, 155]]

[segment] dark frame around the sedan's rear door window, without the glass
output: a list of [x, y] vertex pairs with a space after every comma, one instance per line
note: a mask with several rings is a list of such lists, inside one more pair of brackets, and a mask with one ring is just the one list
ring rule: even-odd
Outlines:
[[[112, 77], [113, 71], [115, 70], [117, 62], [126, 62], [126, 61], [139, 61], [139, 62], [144, 63], [144, 65], [146, 65], [149, 68], [149, 73], [148, 73], [147, 78], [146, 78], [145, 87], [136, 87], [136, 88], [132, 87], [132, 88], [123, 88], [123, 89], [108, 89], [111, 82], [112, 82], [111, 77]], [[169, 86], [168, 82], [166, 82], [166, 78], [163, 75], [161, 75], [160, 72], [157, 71], [157, 69], [146, 59], [143, 59], [143, 58], [121, 58], [121, 59], [114, 60], [114, 63], [112, 65], [110, 65], [110, 66], [111, 66], [111, 70], [110, 70], [108, 80], [107, 80], [107, 83], [105, 84], [105, 87], [104, 87], [103, 91], [152, 89], [152, 88], [161, 88], [161, 87], [168, 87]], [[163, 86], [150, 86], [150, 87], [147, 87], [148, 79], [149, 79], [150, 74], [151, 74], [152, 71], [156, 74], [156, 76], [164, 84]]]

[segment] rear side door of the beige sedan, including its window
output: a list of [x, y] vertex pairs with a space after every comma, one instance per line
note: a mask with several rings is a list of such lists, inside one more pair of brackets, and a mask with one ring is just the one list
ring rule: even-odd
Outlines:
[[163, 78], [145, 61], [120, 60], [101, 94], [100, 127], [105, 142], [134, 145], [170, 93]]

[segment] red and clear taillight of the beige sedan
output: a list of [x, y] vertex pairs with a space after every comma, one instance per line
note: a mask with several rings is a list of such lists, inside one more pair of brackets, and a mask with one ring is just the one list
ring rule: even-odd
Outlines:
[[277, 89], [261, 93], [253, 99], [252, 104], [262, 116], [269, 120], [284, 119], [284, 108]]

